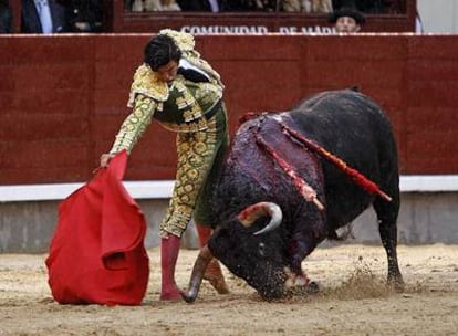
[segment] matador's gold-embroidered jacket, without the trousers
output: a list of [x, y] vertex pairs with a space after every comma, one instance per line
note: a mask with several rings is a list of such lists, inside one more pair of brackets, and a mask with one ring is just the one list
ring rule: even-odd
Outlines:
[[209, 127], [205, 115], [222, 98], [220, 76], [194, 50], [194, 36], [173, 30], [159, 33], [170, 35], [181, 50], [183, 59], [205, 72], [209, 82], [195, 83], [177, 75], [170, 85], [162, 82], [148, 65], [142, 64], [135, 72], [127, 103], [133, 112], [122, 124], [111, 154], [122, 149], [131, 153], [153, 117], [174, 132], [205, 130]]

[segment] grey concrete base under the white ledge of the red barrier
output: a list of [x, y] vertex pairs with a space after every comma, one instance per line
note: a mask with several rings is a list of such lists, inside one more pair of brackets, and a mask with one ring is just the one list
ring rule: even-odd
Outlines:
[[[43, 253], [58, 222], [59, 201], [0, 203], [0, 253]], [[158, 223], [167, 199], [138, 200], [147, 221], [145, 245], [157, 246]], [[398, 241], [406, 244], [458, 243], [458, 192], [404, 192], [398, 219]], [[348, 242], [379, 244], [377, 221], [367, 209], [353, 223], [355, 239]], [[198, 246], [191, 222], [183, 248]]]

